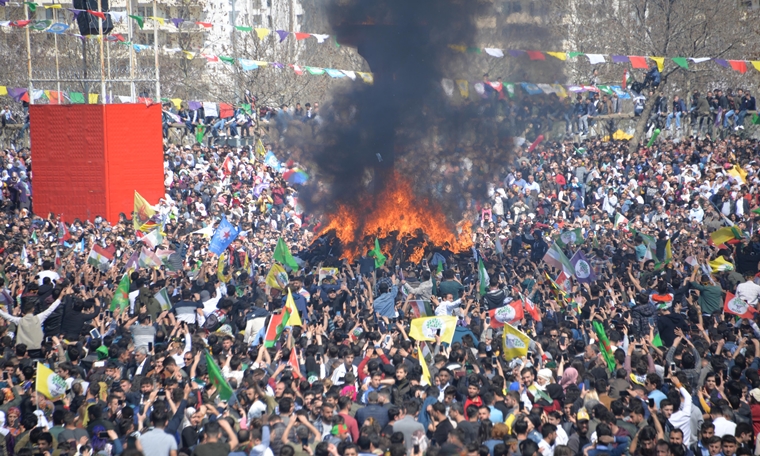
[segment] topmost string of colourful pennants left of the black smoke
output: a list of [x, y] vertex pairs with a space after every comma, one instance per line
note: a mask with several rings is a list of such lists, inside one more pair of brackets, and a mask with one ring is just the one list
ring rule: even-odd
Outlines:
[[[161, 26], [171, 23], [171, 24], [174, 24], [174, 26], [178, 29], [180, 27], [186, 27], [187, 25], [195, 25], [195, 26], [200, 27], [201, 29], [209, 30], [213, 28], [215, 25], [217, 26], [226, 25], [226, 24], [215, 24], [213, 22], [205, 22], [205, 21], [199, 21], [196, 19], [188, 19], [188, 18], [181, 18], [181, 17], [140, 16], [137, 14], [127, 14], [126, 11], [100, 12], [100, 11], [77, 9], [77, 8], [63, 8], [63, 6], [60, 4], [39, 5], [35, 2], [24, 2], [22, 4], [22, 3], [17, 3], [17, 2], [7, 2], [4, 0], [0, 0], [0, 6], [22, 6], [22, 5], [26, 5], [26, 7], [29, 8], [29, 11], [32, 13], [36, 12], [37, 8], [40, 6], [42, 6], [45, 9], [63, 9], [72, 14], [72, 20], [76, 20], [77, 17], [82, 13], [91, 14], [92, 16], [101, 18], [103, 20], [106, 19], [106, 15], [109, 15], [111, 17], [111, 20], [114, 23], [122, 22], [126, 20], [127, 18], [130, 18], [135, 21], [135, 23], [137, 24], [138, 27], [140, 27], [140, 29], [142, 29], [145, 26], [145, 22], [147, 20], [151, 20], [156, 24], [160, 24]], [[51, 21], [33, 21], [33, 20], [0, 21], [0, 26], [26, 27], [27, 25], [32, 25], [33, 26], [32, 28], [35, 28], [34, 27], [35, 24], [38, 24], [37, 27], [41, 27], [42, 24], [39, 24], [39, 23], [44, 23], [44, 22], [48, 22], [47, 24], [48, 26], [55, 25], [56, 29], [61, 29], [63, 28], [62, 26], [66, 26], [66, 29], [69, 28], [68, 24], [64, 24], [62, 22], [58, 22], [56, 24], [50, 24]], [[315, 38], [317, 40], [317, 43], [322, 44], [322, 43], [325, 43], [327, 39], [330, 38], [331, 36], [324, 33], [293, 32], [293, 31], [280, 30], [280, 29], [272, 30], [266, 27], [253, 27], [253, 26], [246, 26], [246, 25], [236, 25], [235, 29], [241, 32], [253, 32], [256, 34], [256, 36], [260, 40], [263, 40], [270, 35], [276, 35], [280, 43], [282, 43], [283, 41], [285, 41], [285, 39], [287, 39], [289, 36], [292, 35], [296, 41], [303, 41], [307, 38]], [[335, 41], [335, 37], [333, 37], [333, 43], [337, 47], [340, 47], [337, 41]]]

